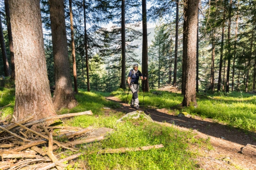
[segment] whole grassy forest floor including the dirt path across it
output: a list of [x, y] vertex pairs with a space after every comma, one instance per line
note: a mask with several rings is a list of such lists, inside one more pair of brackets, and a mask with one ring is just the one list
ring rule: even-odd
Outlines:
[[[1, 86], [0, 107], [11, 104], [0, 110], [1, 119], [4, 119], [13, 112], [15, 88], [12, 83], [2, 83]], [[148, 122], [142, 117], [118, 123], [116, 120], [135, 111], [125, 103], [126, 97], [127, 91], [121, 89], [111, 94], [80, 89], [79, 94], [76, 94], [79, 105], [71, 110], [62, 109], [58, 114], [91, 110], [93, 116], [64, 119], [63, 125], [114, 129], [105, 140], [93, 142], [86, 147], [81, 145], [80, 152], [155, 144], [163, 144], [164, 147], [138, 152], [80, 156], [76, 166], [67, 169], [256, 169], [256, 157], [241, 153], [241, 148], [246, 144], [256, 145], [256, 96], [253, 94], [199, 93], [197, 108], [175, 108], [183, 99], [181, 94], [150, 91], [145, 93], [145, 103], [140, 104], [140, 110], [150, 115], [154, 122]], [[143, 93], [139, 93], [139, 99], [142, 103]], [[128, 101], [130, 100], [131, 94], [128, 95]], [[178, 117], [179, 113], [186, 116]], [[63, 158], [67, 155], [58, 156]]]

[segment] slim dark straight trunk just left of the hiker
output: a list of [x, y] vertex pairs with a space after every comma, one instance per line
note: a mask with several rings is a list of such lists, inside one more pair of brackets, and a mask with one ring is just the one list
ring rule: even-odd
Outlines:
[[125, 88], [125, 0], [122, 0], [122, 14], [121, 14], [121, 38], [122, 38], [122, 73], [121, 73], [121, 87]]

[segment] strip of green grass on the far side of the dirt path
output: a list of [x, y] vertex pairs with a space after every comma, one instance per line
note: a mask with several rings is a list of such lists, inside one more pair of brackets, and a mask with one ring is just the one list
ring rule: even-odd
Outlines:
[[[154, 106], [157, 108], [172, 108], [183, 100], [183, 95], [170, 93], [166, 91], [157, 91], [153, 94], [150, 91], [145, 93], [144, 106]], [[130, 92], [131, 93], [131, 92]], [[127, 92], [111, 93], [125, 101]], [[128, 101], [131, 100], [131, 94], [128, 95]], [[143, 103], [143, 92], [139, 93], [140, 103]], [[215, 93], [197, 94], [198, 107], [187, 107], [182, 109], [192, 115], [212, 118], [223, 122], [232, 127], [239, 127], [243, 130], [256, 131], [256, 96], [253, 94], [233, 92], [233, 93]], [[140, 104], [142, 105], [142, 104]]]

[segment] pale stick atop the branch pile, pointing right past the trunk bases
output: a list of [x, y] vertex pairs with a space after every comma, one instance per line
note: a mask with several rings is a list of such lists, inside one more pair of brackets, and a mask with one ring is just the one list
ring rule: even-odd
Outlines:
[[81, 116], [81, 115], [85, 115], [85, 114], [93, 115], [93, 112], [92, 111], [84, 111], [84, 112], [79, 112], [79, 113], [68, 113], [68, 114], [47, 117], [44, 119], [39, 119], [39, 120], [35, 120], [33, 122], [29, 122], [29, 123], [25, 124], [25, 126], [31, 126], [31, 125], [35, 125], [35, 124], [46, 122], [46, 121], [62, 119], [62, 118], [67, 118], [67, 117], [73, 117], [73, 116]]

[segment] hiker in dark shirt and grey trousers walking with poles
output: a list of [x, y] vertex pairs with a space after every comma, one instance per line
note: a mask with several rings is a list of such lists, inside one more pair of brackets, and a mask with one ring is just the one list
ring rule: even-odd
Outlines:
[[135, 108], [136, 110], [139, 109], [139, 98], [138, 98], [138, 92], [139, 92], [139, 78], [143, 81], [147, 79], [147, 77], [143, 77], [141, 72], [138, 70], [138, 63], [134, 63], [133, 69], [131, 69], [129, 75], [128, 75], [128, 86], [131, 88], [132, 92], [132, 99], [131, 99], [131, 108]]

